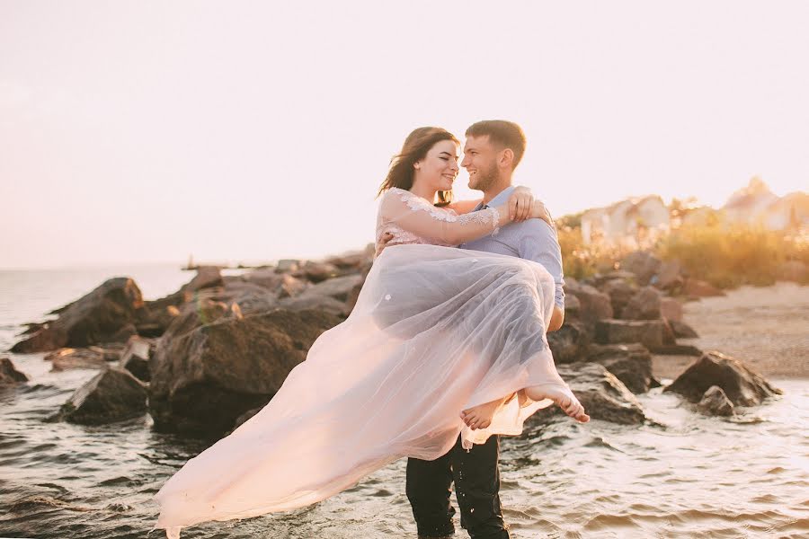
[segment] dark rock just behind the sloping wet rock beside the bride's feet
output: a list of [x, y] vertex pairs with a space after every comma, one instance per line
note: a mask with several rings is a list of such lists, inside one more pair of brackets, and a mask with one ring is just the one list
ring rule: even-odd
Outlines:
[[587, 360], [606, 367], [632, 393], [646, 393], [660, 386], [652, 376], [652, 354], [642, 344], [594, 345]]

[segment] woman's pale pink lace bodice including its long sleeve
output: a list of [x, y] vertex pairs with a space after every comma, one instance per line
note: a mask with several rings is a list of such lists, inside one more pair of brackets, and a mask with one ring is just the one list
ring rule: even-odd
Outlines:
[[499, 212], [486, 208], [458, 215], [450, 208], [437, 208], [428, 200], [408, 190], [393, 187], [379, 203], [377, 216], [377, 251], [383, 234], [394, 235], [387, 245], [428, 243], [458, 245], [496, 233]]

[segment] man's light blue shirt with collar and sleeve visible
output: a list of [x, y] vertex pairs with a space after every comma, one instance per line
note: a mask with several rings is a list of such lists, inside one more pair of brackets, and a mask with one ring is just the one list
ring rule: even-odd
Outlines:
[[[511, 186], [502, 190], [487, 206], [496, 208], [505, 204], [514, 189]], [[483, 208], [484, 205], [478, 204], [473, 211]], [[473, 242], [462, 243], [458, 247], [472, 251], [507, 254], [539, 262], [556, 282], [554, 302], [560, 309], [565, 309], [565, 291], [562, 289], [565, 284], [562, 274], [562, 250], [559, 248], [556, 230], [545, 221], [528, 219], [521, 223], [509, 223], [502, 226], [496, 235], [489, 234]]]

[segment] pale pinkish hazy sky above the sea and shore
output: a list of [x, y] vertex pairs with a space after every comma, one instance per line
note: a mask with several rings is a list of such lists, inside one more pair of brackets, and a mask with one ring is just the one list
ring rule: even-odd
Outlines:
[[[809, 186], [809, 3], [0, 0], [0, 268], [373, 241], [406, 135], [511, 119], [555, 216]], [[467, 174], [459, 198], [475, 198]]]

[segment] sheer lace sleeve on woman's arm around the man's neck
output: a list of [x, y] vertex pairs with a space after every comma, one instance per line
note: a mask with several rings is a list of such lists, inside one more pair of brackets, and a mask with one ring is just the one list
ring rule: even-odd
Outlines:
[[502, 220], [497, 208], [486, 208], [461, 216], [450, 209], [436, 208], [410, 191], [391, 189], [382, 201], [387, 222], [441, 243], [457, 245], [496, 233]]

